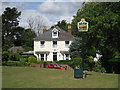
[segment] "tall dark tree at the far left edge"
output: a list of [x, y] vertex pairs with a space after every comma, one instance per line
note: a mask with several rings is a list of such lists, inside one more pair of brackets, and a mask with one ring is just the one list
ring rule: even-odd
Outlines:
[[14, 45], [15, 40], [15, 28], [19, 24], [19, 16], [21, 12], [17, 11], [16, 8], [7, 7], [2, 14], [2, 46], [3, 50], [7, 50]]

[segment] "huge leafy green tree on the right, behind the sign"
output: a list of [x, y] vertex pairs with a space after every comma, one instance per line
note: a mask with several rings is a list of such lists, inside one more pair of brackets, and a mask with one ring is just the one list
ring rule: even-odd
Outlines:
[[[115, 8], [113, 8], [115, 7]], [[72, 20], [74, 36], [84, 39], [84, 48], [88, 56], [95, 55], [96, 52], [102, 55], [102, 65], [108, 72], [118, 73], [119, 60], [116, 67], [111, 68], [111, 59], [120, 56], [120, 2], [97, 2], [86, 3], [82, 9], [77, 11]], [[77, 30], [77, 22], [85, 18], [89, 22], [89, 31], [80, 33]], [[120, 71], [120, 70], [119, 70]]]

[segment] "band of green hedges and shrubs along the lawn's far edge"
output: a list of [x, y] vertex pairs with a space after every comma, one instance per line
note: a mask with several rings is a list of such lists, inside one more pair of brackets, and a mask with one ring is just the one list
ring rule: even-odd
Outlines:
[[[3, 66], [33, 66], [34, 64], [44, 64], [47, 65], [49, 63], [58, 63], [58, 64], [66, 64], [69, 65], [71, 68], [75, 68], [75, 66], [83, 66], [83, 59], [72, 58], [71, 60], [60, 60], [60, 61], [37, 61], [35, 56], [28, 56], [28, 55], [20, 55], [19, 53], [12, 53], [12, 52], [3, 52], [2, 53], [2, 65]], [[101, 62], [97, 61], [94, 62], [92, 57], [88, 57], [84, 59], [84, 70], [87, 71], [95, 71], [95, 72], [102, 72], [105, 73], [106, 70], [102, 67]]]

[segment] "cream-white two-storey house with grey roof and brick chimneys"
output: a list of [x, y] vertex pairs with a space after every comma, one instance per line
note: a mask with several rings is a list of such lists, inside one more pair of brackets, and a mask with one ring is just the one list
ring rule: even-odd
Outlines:
[[34, 38], [34, 55], [40, 61], [70, 60], [69, 46], [74, 40], [71, 26], [68, 32], [56, 26], [52, 30], [43, 28], [43, 34]]

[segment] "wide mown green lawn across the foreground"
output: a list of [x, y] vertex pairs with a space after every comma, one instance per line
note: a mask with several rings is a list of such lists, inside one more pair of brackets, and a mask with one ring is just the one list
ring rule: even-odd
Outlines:
[[117, 88], [118, 75], [88, 72], [75, 79], [73, 71], [37, 67], [3, 67], [3, 88]]

